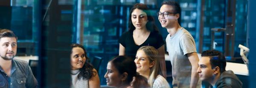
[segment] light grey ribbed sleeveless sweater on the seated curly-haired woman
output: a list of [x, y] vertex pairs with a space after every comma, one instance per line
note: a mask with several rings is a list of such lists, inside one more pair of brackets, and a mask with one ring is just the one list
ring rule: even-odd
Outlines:
[[71, 70], [72, 84], [70, 88], [89, 88], [89, 81], [78, 79], [79, 69]]

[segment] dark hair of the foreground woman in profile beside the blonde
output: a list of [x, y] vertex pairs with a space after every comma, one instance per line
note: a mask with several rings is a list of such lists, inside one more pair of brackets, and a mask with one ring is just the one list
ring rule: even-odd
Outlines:
[[132, 82], [133, 77], [136, 77], [136, 80], [133, 82], [132, 87], [134, 88], [148, 88], [148, 80], [147, 78], [143, 77], [139, 73], [137, 73], [136, 65], [134, 60], [128, 58], [126, 56], [116, 56], [112, 60], [109, 61], [112, 63], [113, 66], [118, 70], [119, 74], [123, 74], [126, 72], [128, 74], [125, 84], [129, 84]]

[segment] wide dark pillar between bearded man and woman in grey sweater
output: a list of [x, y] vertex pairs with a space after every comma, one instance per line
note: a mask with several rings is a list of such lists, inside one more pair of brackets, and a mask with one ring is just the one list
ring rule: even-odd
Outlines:
[[[59, 0], [43, 1], [48, 6], [41, 29], [41, 87], [70, 88], [70, 44], [73, 34], [73, 5]], [[41, 7], [44, 9], [43, 7]]]

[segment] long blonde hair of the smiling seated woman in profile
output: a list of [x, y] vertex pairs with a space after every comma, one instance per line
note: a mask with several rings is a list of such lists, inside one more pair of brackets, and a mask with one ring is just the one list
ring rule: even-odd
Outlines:
[[[160, 69], [160, 61], [158, 56], [158, 51], [156, 48], [151, 46], [143, 46], [140, 47], [139, 50], [143, 50], [143, 52], [147, 55], [149, 62], [152, 63], [155, 62], [154, 66], [150, 68], [150, 75], [148, 79], [148, 84], [152, 88], [153, 82], [156, 79], [157, 75], [162, 75], [161, 69]], [[137, 52], [139, 51], [137, 50]]]

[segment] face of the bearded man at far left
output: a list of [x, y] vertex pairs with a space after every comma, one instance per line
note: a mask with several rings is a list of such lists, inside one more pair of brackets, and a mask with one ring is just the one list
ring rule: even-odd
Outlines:
[[17, 52], [17, 40], [15, 37], [0, 38], [0, 58], [12, 60]]

